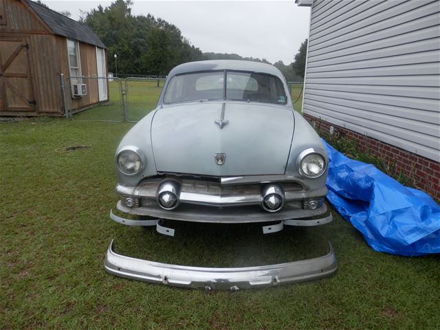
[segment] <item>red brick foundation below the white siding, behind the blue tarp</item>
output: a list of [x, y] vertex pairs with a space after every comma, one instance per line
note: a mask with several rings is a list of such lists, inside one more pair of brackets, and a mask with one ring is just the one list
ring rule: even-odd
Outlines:
[[[394, 167], [395, 173], [401, 173], [407, 178], [411, 178], [415, 188], [419, 188], [428, 193], [431, 197], [440, 201], [440, 163], [432, 159], [410, 153], [404, 149], [392, 146], [373, 137], [368, 137], [360, 133], [344, 129], [335, 124], [330, 124], [314, 118], [304, 113], [304, 118], [309, 122], [315, 122], [315, 128], [325, 133], [329, 133], [330, 126], [338, 133], [343, 133], [358, 142], [358, 148], [362, 152], [368, 152], [380, 157], [384, 164]], [[319, 126], [319, 127], [318, 127]], [[389, 173], [388, 173], [389, 174]]]

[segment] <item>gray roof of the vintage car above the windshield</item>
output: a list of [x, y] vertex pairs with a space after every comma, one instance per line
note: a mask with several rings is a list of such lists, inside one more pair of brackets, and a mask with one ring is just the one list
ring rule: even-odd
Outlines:
[[272, 74], [284, 81], [284, 76], [280, 70], [270, 64], [254, 62], [254, 61], [236, 61], [236, 60], [210, 60], [188, 62], [177, 65], [171, 70], [169, 77], [176, 74], [187, 74], [190, 72], [214, 71], [214, 70], [235, 70], [259, 72], [262, 74]]

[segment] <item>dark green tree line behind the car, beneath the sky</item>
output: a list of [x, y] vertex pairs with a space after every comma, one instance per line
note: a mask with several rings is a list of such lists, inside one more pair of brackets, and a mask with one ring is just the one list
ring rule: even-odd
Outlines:
[[[116, 69], [114, 54], [118, 55], [120, 74], [164, 76], [181, 63], [211, 59], [270, 63], [265, 58], [243, 58], [239, 54], [203, 53], [198, 47], [191, 45], [175, 25], [151, 14], [133, 15], [131, 5], [132, 0], [116, 0], [105, 8], [98, 5], [98, 8], [81, 14], [80, 22], [88, 25], [107, 46], [109, 72], [114, 73]], [[305, 43], [307, 50], [307, 40]], [[305, 64], [305, 54], [299, 57], [298, 54], [296, 62], [300, 63], [304, 57]], [[285, 65], [278, 61], [274, 66], [283, 72], [287, 80], [303, 79], [304, 71], [301, 71], [300, 65], [297, 65], [298, 70], [295, 62]]]

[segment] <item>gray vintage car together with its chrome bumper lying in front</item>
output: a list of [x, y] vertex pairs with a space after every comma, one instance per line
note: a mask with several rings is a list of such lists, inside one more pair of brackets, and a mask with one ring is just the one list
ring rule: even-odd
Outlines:
[[[156, 109], [124, 136], [116, 151], [117, 209], [141, 217], [110, 216], [125, 225], [155, 225], [170, 236], [175, 230], [163, 219], [262, 223], [264, 233], [284, 225], [320, 225], [332, 219], [323, 203], [327, 162], [320, 138], [294, 111], [276, 67], [248, 61], [185, 63], [170, 72]], [[274, 267], [267, 272], [260, 267], [221, 269], [221, 274], [194, 267], [178, 272], [184, 266], [149, 261], [142, 267], [126, 265], [133, 260], [116, 254], [111, 245], [105, 267], [129, 278], [209, 288], [222, 286], [219, 276], [223, 286], [254, 287], [336, 270], [331, 246], [329, 254], [307, 267], [263, 266]], [[165, 269], [170, 274], [165, 276]], [[267, 274], [272, 274], [269, 282]]]

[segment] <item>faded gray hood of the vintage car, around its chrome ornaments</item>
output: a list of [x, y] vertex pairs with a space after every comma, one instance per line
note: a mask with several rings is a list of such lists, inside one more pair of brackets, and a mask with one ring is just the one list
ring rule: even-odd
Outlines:
[[[221, 119], [223, 128], [215, 121]], [[158, 109], [151, 124], [157, 172], [284, 174], [294, 133], [287, 107], [255, 102], [190, 102]], [[214, 154], [224, 153], [224, 164]]]

